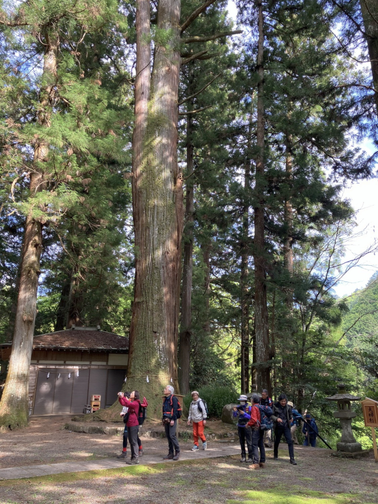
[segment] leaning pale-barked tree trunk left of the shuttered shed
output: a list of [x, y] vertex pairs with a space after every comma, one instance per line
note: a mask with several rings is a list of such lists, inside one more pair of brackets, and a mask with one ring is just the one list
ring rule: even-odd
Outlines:
[[[46, 36], [41, 102], [38, 122], [44, 128], [51, 124], [51, 103], [56, 81], [58, 42]], [[30, 173], [30, 196], [44, 188], [43, 163], [48, 156], [48, 143], [36, 138], [34, 147], [34, 171]], [[33, 204], [26, 217], [22, 249], [20, 287], [17, 301], [12, 353], [7, 380], [0, 403], [0, 430], [24, 427], [28, 423], [28, 382], [33, 334], [37, 314], [37, 288], [42, 251], [42, 224], [33, 218]]]

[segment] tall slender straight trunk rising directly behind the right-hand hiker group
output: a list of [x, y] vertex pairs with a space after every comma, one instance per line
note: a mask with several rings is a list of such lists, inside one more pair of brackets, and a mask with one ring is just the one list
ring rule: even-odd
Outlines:
[[269, 327], [267, 308], [267, 284], [265, 268], [265, 219], [264, 219], [264, 15], [261, 0], [257, 2], [259, 15], [259, 42], [257, 67], [259, 74], [257, 97], [257, 148], [256, 156], [256, 183], [255, 183], [255, 237], [254, 237], [254, 262], [255, 262], [255, 329], [256, 329], [256, 368], [258, 390], [270, 391], [270, 351]]

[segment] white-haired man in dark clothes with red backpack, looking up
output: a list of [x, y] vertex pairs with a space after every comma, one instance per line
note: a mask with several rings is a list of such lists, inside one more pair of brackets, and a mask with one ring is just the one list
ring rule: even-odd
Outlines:
[[174, 388], [167, 385], [164, 389], [163, 400], [163, 425], [168, 439], [168, 455], [163, 460], [178, 460], [180, 457], [180, 445], [176, 437], [177, 420], [181, 417], [181, 406], [174, 395]]

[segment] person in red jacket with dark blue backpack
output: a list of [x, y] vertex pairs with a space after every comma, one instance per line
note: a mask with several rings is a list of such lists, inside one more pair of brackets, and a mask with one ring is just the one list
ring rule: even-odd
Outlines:
[[[253, 464], [249, 469], [260, 469], [265, 467], [264, 432], [267, 430], [268, 414], [273, 411], [269, 406], [261, 406], [260, 397], [257, 394], [252, 396], [252, 407], [250, 410], [250, 420], [248, 425], [252, 430], [252, 450]], [[260, 450], [260, 459], [259, 459]]]

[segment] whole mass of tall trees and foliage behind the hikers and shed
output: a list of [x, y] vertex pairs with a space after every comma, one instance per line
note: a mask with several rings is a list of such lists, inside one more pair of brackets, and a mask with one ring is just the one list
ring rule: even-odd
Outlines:
[[376, 2], [235, 5], [2, 3], [0, 424], [26, 422], [33, 334], [73, 325], [129, 336], [153, 405], [256, 384], [333, 435], [340, 381], [374, 395], [376, 276], [334, 288], [343, 188], [376, 176]]

